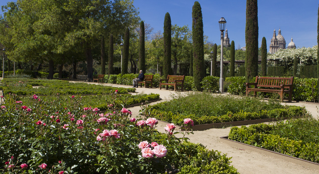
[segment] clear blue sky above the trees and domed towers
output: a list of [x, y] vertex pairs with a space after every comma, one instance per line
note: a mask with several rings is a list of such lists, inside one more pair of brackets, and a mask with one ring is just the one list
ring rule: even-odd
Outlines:
[[[7, 4], [7, 0], [0, 0], [0, 5]], [[135, 0], [134, 6], [139, 8], [139, 16], [149, 23], [154, 31], [163, 31], [165, 13], [169, 12], [172, 24], [179, 26], [192, 25], [192, 6], [195, 1], [190, 0]], [[224, 17], [230, 40], [234, 40], [235, 48], [238, 44], [245, 46], [245, 0], [198, 0], [202, 7], [204, 34], [214, 43], [220, 44], [218, 20]], [[259, 39], [266, 37], [269, 50], [270, 40], [274, 28], [281, 34], [288, 46], [291, 36], [297, 47], [312, 47], [317, 45], [317, 15], [318, 0], [259, 0], [258, 26]], [[2, 12], [0, 13], [2, 14]]]

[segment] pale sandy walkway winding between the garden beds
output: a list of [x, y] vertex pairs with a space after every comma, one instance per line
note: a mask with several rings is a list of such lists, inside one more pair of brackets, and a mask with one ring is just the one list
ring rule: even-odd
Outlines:
[[[97, 83], [95, 83], [97, 84]], [[105, 84], [115, 87], [125, 87], [128, 88], [128, 85], [118, 85], [118, 84]], [[175, 94], [176, 92], [172, 90], [159, 90], [159, 88], [137, 88], [137, 92], [141, 93], [144, 92], [146, 94], [149, 93], [156, 93], [159, 94], [161, 98], [165, 100], [170, 99], [170, 95]], [[162, 102], [158, 101], [158, 102]], [[158, 103], [154, 102], [151, 105]], [[317, 109], [316, 106], [319, 104], [307, 103], [307, 102], [292, 102], [288, 103], [287, 105], [305, 105], [307, 110], [317, 117]], [[132, 107], [130, 110], [133, 112], [134, 116], [138, 115], [138, 111], [140, 110], [139, 106]], [[165, 132], [163, 123], [159, 123], [157, 125], [157, 129], [159, 132]], [[188, 137], [191, 142], [194, 143], [202, 143], [204, 146], [207, 146], [208, 149], [214, 149], [221, 151], [222, 153], [227, 153], [228, 156], [232, 156], [233, 161], [231, 164], [238, 169], [241, 174], [315, 174], [318, 173], [318, 170], [305, 168], [300, 166], [296, 163], [287, 162], [284, 159], [263, 155], [261, 153], [257, 153], [254, 151], [246, 150], [246, 149], [237, 149], [236, 147], [232, 147], [226, 143], [220, 142], [219, 137], [221, 136], [228, 136], [230, 131], [230, 127], [224, 129], [208, 129], [205, 131], [194, 131], [194, 134], [190, 134]]]

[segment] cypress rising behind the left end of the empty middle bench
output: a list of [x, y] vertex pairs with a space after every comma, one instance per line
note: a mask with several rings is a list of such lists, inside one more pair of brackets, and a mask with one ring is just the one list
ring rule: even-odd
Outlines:
[[163, 75], [166, 78], [167, 75], [172, 74], [171, 58], [172, 58], [172, 24], [171, 16], [167, 12], [164, 18], [164, 64], [163, 64]]

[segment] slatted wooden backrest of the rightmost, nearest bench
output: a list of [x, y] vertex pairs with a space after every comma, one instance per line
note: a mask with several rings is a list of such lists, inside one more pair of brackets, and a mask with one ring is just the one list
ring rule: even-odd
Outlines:
[[[293, 77], [259, 77], [256, 76], [257, 87], [280, 88], [282, 84], [293, 84]], [[289, 87], [287, 87], [289, 88]]]

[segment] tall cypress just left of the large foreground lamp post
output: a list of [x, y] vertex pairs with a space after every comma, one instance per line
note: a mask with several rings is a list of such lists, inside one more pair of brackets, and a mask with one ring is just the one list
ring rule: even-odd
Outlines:
[[202, 8], [198, 1], [195, 1], [192, 11], [193, 23], [193, 78], [194, 85], [198, 91], [202, 91], [201, 82], [205, 76], [204, 64], [204, 31]]

